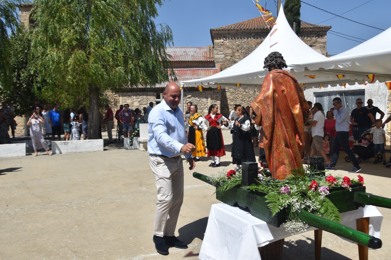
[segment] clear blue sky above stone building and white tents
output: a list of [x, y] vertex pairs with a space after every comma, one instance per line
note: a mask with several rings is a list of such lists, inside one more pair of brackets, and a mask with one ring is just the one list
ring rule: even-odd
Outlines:
[[[260, 0], [258, 4], [276, 16], [276, 2]], [[304, 2], [365, 25], [384, 30], [391, 27], [390, 0], [304, 0]], [[359, 5], [362, 6], [358, 7]], [[349, 11], [355, 7], [357, 8]], [[230, 25], [260, 15], [252, 0], [171, 0], [165, 1], [163, 6], [158, 8], [158, 12], [156, 23], [167, 23], [170, 26], [174, 35], [174, 46], [177, 47], [212, 45], [210, 28]], [[344, 12], [346, 13], [343, 14]], [[382, 32], [343, 18], [333, 18], [334, 16], [301, 3], [301, 21], [331, 25], [331, 30], [349, 35], [342, 36], [356, 40], [352, 41], [328, 33], [327, 52], [332, 55], [349, 50], [360, 44], [357, 41], [363, 42], [362, 39], [368, 40]], [[330, 18], [333, 19], [325, 21]]]

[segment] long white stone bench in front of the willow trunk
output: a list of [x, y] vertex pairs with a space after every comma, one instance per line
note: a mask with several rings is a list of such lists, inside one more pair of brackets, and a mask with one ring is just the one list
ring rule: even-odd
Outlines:
[[103, 139], [53, 141], [52, 153], [80, 153], [88, 151], [103, 151]]

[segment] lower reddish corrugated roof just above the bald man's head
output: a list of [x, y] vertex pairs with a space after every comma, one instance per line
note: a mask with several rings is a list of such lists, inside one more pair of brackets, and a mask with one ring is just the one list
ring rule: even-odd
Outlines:
[[[191, 80], [197, 78], [204, 78], [212, 76], [217, 72], [220, 72], [220, 65], [214, 68], [186, 68], [186, 69], [174, 69], [177, 74], [178, 81], [173, 81], [175, 84], [180, 85], [181, 80]], [[161, 84], [156, 84], [152, 87], [165, 87], [168, 82], [163, 82]]]

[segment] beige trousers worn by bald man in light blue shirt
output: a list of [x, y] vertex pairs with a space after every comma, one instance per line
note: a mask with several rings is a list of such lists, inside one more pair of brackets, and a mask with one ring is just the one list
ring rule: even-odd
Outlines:
[[158, 188], [153, 234], [158, 237], [173, 236], [183, 202], [182, 158], [150, 154], [149, 165]]

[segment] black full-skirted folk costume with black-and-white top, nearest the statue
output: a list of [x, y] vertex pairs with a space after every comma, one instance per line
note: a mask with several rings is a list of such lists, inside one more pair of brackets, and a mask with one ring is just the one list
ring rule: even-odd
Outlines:
[[[237, 126], [236, 122], [239, 122], [240, 126]], [[228, 128], [233, 130], [232, 164], [236, 164], [236, 167], [239, 168], [243, 162], [256, 162], [253, 142], [248, 132], [251, 128], [248, 116], [244, 115], [231, 121]]]

